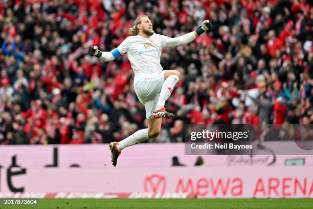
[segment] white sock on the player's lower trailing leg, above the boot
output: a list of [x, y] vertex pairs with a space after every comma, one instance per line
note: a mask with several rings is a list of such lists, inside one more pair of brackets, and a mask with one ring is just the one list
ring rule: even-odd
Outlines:
[[123, 139], [117, 144], [118, 151], [123, 150], [126, 147], [129, 147], [131, 145], [140, 143], [142, 141], [148, 140], [148, 129], [141, 129], [139, 131], [136, 131], [135, 133], [131, 134], [127, 138]]

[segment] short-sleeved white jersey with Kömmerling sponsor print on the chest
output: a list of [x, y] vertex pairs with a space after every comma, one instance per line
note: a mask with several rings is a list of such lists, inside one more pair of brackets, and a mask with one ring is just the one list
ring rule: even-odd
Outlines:
[[152, 74], [162, 71], [161, 52], [169, 39], [171, 38], [155, 33], [148, 38], [128, 36], [117, 49], [121, 54], [127, 53], [135, 77], [139, 74]]

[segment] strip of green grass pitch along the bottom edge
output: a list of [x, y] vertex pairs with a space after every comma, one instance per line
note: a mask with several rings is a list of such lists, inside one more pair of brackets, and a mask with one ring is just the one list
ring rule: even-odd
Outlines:
[[36, 206], [4, 206], [6, 208], [313, 208], [313, 199], [38, 199]]

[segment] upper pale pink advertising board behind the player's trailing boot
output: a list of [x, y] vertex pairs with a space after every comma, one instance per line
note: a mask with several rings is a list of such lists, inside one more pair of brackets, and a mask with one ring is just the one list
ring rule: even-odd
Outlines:
[[[285, 143], [285, 142], [283, 142]], [[118, 160], [119, 168], [171, 166], [172, 157], [193, 166], [197, 155], [185, 155], [184, 143], [142, 143], [126, 148]], [[279, 144], [277, 145], [279, 147]], [[313, 165], [313, 155], [202, 155], [205, 166], [277, 166], [301, 161]], [[293, 163], [293, 162], [292, 162]], [[108, 144], [82, 145], [4, 145], [0, 146], [0, 166], [19, 165], [40, 168], [104, 168], [111, 166]]]

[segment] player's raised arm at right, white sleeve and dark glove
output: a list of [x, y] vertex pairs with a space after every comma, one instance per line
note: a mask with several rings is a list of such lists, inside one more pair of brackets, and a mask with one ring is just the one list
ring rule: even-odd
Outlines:
[[202, 23], [202, 26], [199, 26], [195, 31], [182, 35], [180, 37], [175, 38], [167, 38], [165, 47], [176, 47], [180, 45], [189, 44], [193, 41], [197, 36], [201, 35], [205, 31], [211, 30], [212, 24], [210, 20], [206, 19]]

